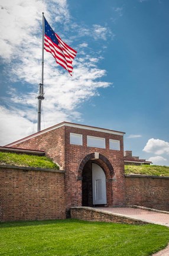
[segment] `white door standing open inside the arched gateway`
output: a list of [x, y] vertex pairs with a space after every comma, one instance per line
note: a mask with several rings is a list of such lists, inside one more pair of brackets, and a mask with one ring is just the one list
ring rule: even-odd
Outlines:
[[106, 175], [99, 165], [92, 164], [93, 204], [106, 204]]

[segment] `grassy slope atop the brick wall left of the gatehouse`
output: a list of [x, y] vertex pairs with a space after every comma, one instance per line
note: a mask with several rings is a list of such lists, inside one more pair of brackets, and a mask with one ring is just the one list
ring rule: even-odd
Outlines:
[[47, 158], [46, 156], [36, 156], [8, 152], [0, 152], [0, 164], [16, 165], [20, 167], [58, 169], [58, 166], [54, 164], [54, 162], [51, 161], [51, 159]]

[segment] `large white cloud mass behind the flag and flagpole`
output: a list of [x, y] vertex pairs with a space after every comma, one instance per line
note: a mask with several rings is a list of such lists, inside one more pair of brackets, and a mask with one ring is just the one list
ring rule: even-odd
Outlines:
[[[38, 94], [38, 84], [41, 82], [41, 12], [45, 12], [45, 17], [51, 26], [56, 20], [55, 17], [57, 22], [62, 21], [63, 26], [71, 17], [66, 0], [1, 0], [0, 8], [0, 30], [3, 31], [0, 39], [0, 57], [4, 63], [7, 63], [5, 72], [10, 82], [24, 84], [19, 91], [17, 88], [12, 90], [10, 88], [9, 97], [5, 98], [7, 107], [1, 107], [0, 143], [5, 145], [36, 130], [35, 97]], [[52, 15], [47, 11], [48, 9], [53, 10]], [[77, 32], [79, 31], [77, 37], [82, 36], [80, 26], [74, 24], [74, 28], [78, 28]], [[91, 36], [93, 30], [96, 32], [96, 39], [106, 39], [111, 34], [108, 28], [93, 25], [91, 28], [86, 28], [86, 35]], [[69, 42], [66, 40], [66, 43]], [[72, 44], [70, 46], [74, 47]], [[87, 43], [79, 45], [85, 48], [87, 46]], [[43, 125], [42, 115], [42, 129], [63, 120], [79, 121], [81, 119], [81, 114], [77, 111], [79, 105], [99, 95], [98, 88], [111, 85], [110, 82], [102, 81], [106, 71], [97, 66], [102, 58], [101, 53], [92, 53], [92, 51], [90, 54], [81, 53], [81, 55], [78, 53], [74, 59], [74, 73], [71, 77], [56, 64], [50, 53], [44, 52], [45, 121]], [[27, 90], [29, 88], [31, 92], [26, 92], [24, 87]]]

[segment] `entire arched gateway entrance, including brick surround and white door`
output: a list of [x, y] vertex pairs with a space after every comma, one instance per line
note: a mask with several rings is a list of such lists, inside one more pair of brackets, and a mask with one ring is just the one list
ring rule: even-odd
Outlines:
[[79, 166], [79, 178], [82, 177], [82, 206], [112, 205], [113, 167], [109, 160], [95, 153], [85, 156]]

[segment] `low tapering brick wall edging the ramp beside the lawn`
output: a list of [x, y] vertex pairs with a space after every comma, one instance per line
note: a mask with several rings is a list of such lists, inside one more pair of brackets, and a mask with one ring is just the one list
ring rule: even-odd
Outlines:
[[114, 213], [105, 213], [100, 210], [90, 209], [90, 207], [72, 207], [70, 212], [72, 219], [127, 224], [147, 224], [147, 222], [142, 220], [119, 216]]

